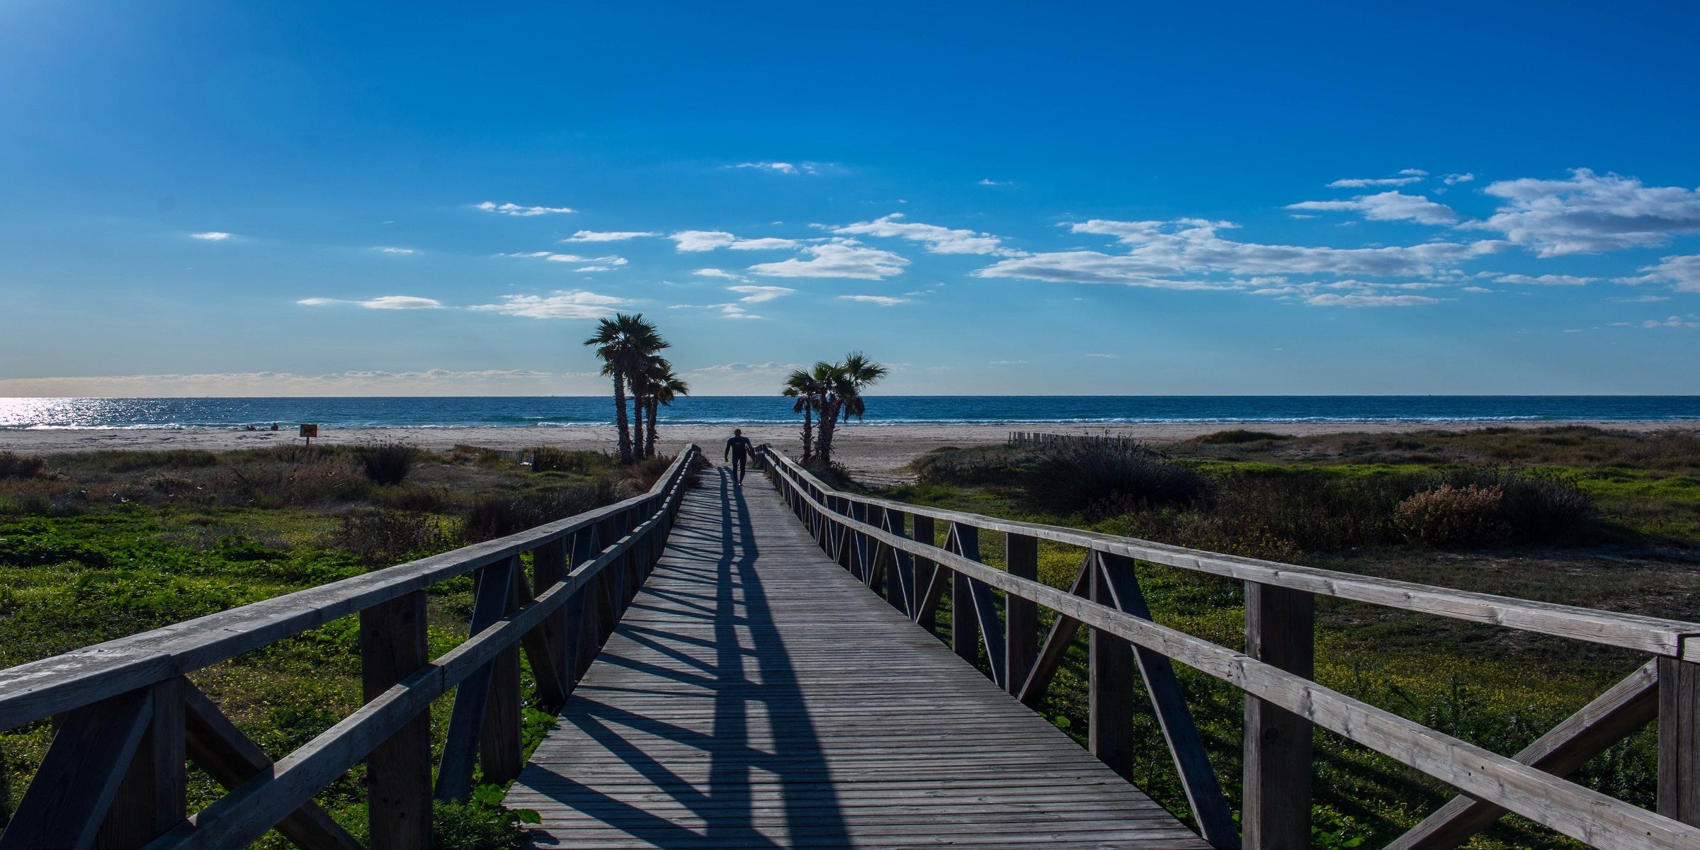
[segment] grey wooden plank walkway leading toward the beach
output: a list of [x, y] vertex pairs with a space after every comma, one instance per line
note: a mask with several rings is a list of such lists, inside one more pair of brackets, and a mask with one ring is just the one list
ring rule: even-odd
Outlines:
[[507, 804], [564, 848], [1209, 847], [826, 559], [753, 469], [685, 495]]

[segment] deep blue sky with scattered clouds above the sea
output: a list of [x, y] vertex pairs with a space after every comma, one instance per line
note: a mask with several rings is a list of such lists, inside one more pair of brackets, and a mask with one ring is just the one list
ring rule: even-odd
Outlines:
[[10, 0], [0, 394], [1700, 393], [1697, 24]]

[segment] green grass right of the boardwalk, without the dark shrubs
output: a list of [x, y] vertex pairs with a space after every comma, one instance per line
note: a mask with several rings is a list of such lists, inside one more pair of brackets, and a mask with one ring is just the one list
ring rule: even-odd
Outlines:
[[[1379, 575], [1462, 590], [1545, 602], [1700, 619], [1700, 457], [1685, 454], [1681, 435], [1624, 437], [1562, 428], [1554, 434], [1416, 434], [1334, 435], [1292, 440], [1202, 440], [1163, 445], [1176, 462], [1224, 479], [1386, 483], [1452, 474], [1477, 464], [1542, 466], [1567, 476], [1593, 498], [1600, 534], [1562, 546], [1506, 544], [1445, 549], [1387, 541], [1307, 551], [1292, 541], [1268, 546], [1284, 559], [1329, 570]], [[1304, 445], [1304, 444], [1309, 445]], [[1299, 444], [1299, 445], [1294, 445]], [[1438, 449], [1438, 450], [1436, 450]], [[1034, 500], [1000, 478], [1018, 462], [1001, 447], [937, 452], [918, 462], [921, 483], [882, 491], [887, 498], [1005, 518], [1088, 527], [1110, 534], [1197, 534], [1197, 525], [1170, 522], [1207, 513], [1209, 507], [1163, 512], [1130, 510], [1046, 515]], [[928, 476], [928, 469], [938, 474]], [[942, 481], [945, 479], [945, 481]], [[947, 483], [954, 479], [954, 483]], [[1280, 491], [1272, 491], [1275, 498]], [[1236, 520], [1243, 522], [1243, 520]], [[1243, 529], [1241, 529], [1243, 530]], [[942, 537], [942, 532], [940, 532]], [[1241, 536], [1229, 542], [1244, 544]], [[1255, 541], [1253, 541], [1255, 542]], [[986, 561], [1001, 564], [1001, 539], [984, 536]], [[1258, 554], [1258, 552], [1243, 552]], [[1068, 586], [1081, 552], [1040, 542], [1040, 580]], [[1221, 646], [1239, 649], [1244, 600], [1238, 583], [1154, 564], [1139, 566], [1158, 622]], [[949, 638], [949, 600], [940, 639]], [[1049, 612], [1042, 614], [1049, 626]], [[1644, 658], [1462, 620], [1426, 617], [1341, 600], [1318, 600], [1318, 682], [1425, 726], [1515, 753], [1584, 706]], [[984, 665], [984, 660], [983, 660]], [[1238, 688], [1180, 668], [1188, 704], [1210, 760], [1239, 804], [1243, 695]], [[1069, 648], [1040, 712], [1085, 745], [1086, 646]], [[1185, 796], [1148, 707], [1134, 717], [1136, 782], [1158, 802], [1188, 818]], [[1380, 847], [1414, 826], [1450, 797], [1450, 790], [1397, 762], [1328, 733], [1316, 734], [1314, 847]], [[1574, 779], [1627, 802], [1651, 808], [1656, 792], [1656, 733], [1642, 729], [1595, 758]], [[1506, 818], [1467, 847], [1477, 850], [1581, 847], [1520, 818]]]

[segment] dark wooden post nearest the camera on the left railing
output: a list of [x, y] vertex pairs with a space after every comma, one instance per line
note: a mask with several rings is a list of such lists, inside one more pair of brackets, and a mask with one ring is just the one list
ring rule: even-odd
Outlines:
[[184, 823], [187, 762], [182, 677], [153, 685], [148, 729], [107, 809], [95, 850], [134, 850]]

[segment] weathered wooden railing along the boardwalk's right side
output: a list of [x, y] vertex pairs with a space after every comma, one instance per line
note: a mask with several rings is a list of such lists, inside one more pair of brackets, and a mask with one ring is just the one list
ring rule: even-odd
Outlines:
[[[984, 648], [991, 678], [1023, 704], [1040, 704], [1069, 643], [1081, 626], [1088, 627], [1091, 751], [1120, 775], [1132, 775], [1134, 687], [1142, 678], [1187, 802], [1202, 836], [1214, 847], [1309, 847], [1314, 726], [1460, 792], [1389, 848], [1457, 847], [1506, 811], [1591, 847], [1700, 847], [1695, 826], [1700, 824], [1700, 624], [908, 505], [833, 490], [770, 445], [762, 445], [758, 457], [826, 554], [910, 619], [932, 629], [949, 585], [955, 653], [976, 663]], [[981, 563], [981, 530], [1005, 534], [1005, 570]], [[940, 532], [944, 546], [933, 546]], [[1037, 581], [1039, 541], [1085, 549], [1073, 588]], [[1141, 593], [1137, 561], [1243, 581], [1246, 651], [1156, 624]], [[1508, 758], [1311, 682], [1318, 595], [1591, 641], [1654, 658]], [[1037, 605], [1056, 612], [1042, 643]], [[1234, 826], [1171, 661], [1246, 694], [1243, 835]], [[1562, 779], [1654, 717], [1659, 724], [1658, 813]]]

